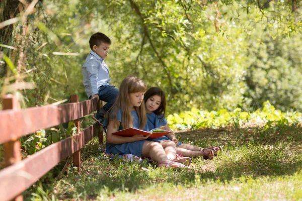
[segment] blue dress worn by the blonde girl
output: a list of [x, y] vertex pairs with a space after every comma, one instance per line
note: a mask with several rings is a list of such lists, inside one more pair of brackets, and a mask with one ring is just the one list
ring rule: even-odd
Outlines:
[[[131, 111], [131, 116], [133, 120], [133, 128], [139, 129], [139, 118], [136, 111]], [[110, 117], [110, 120], [112, 118]], [[119, 109], [117, 113], [117, 120], [122, 122], [122, 110]], [[106, 125], [107, 119], [104, 121], [104, 125]], [[118, 130], [122, 130], [122, 124], [120, 124], [120, 127]], [[104, 126], [104, 131], [107, 130], [107, 127]], [[148, 125], [145, 125], [144, 131], [148, 131]], [[112, 154], [133, 154], [134, 156], [141, 157], [142, 154], [142, 146], [147, 140], [140, 140], [135, 142], [128, 142], [123, 144], [112, 144], [106, 142], [106, 152], [112, 153]]]

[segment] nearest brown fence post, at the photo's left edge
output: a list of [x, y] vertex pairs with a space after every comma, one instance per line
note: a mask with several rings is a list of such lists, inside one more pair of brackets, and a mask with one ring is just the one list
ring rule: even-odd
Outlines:
[[[17, 96], [9, 94], [3, 98], [3, 110], [19, 110], [20, 103]], [[11, 140], [4, 143], [4, 160], [5, 167], [13, 165], [22, 160], [21, 157], [21, 142], [19, 139]], [[13, 187], [13, 186], [12, 186]], [[23, 195], [18, 195], [13, 200], [22, 201]]]

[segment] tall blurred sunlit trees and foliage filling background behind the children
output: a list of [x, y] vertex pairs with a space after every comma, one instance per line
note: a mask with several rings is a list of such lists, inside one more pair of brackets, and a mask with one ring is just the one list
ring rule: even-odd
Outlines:
[[6, 49], [3, 58], [17, 76], [9, 73], [0, 87], [2, 94], [13, 92], [19, 76], [33, 83], [34, 89], [17, 84], [24, 107], [73, 93], [87, 99], [81, 66], [90, 36], [101, 31], [113, 41], [106, 58], [111, 83], [119, 86], [125, 76], [136, 75], [147, 86], [163, 88], [168, 113], [192, 107], [252, 111], [267, 99], [283, 112], [300, 110], [300, 6], [298, 1], [40, 1], [26, 23], [14, 24], [13, 37], [21, 43], [8, 45], [22, 47]]

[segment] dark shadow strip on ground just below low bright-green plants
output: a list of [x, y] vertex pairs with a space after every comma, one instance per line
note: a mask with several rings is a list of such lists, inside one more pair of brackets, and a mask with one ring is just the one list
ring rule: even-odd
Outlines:
[[[247, 143], [275, 144], [276, 142], [302, 141], [302, 127], [300, 125], [265, 127], [245, 127], [236, 129], [226, 127], [219, 129], [198, 129], [193, 131], [178, 132], [179, 141], [195, 144], [197, 146], [209, 146], [213, 143], [228, 147], [242, 146]], [[212, 145], [211, 145], [212, 146]]]

